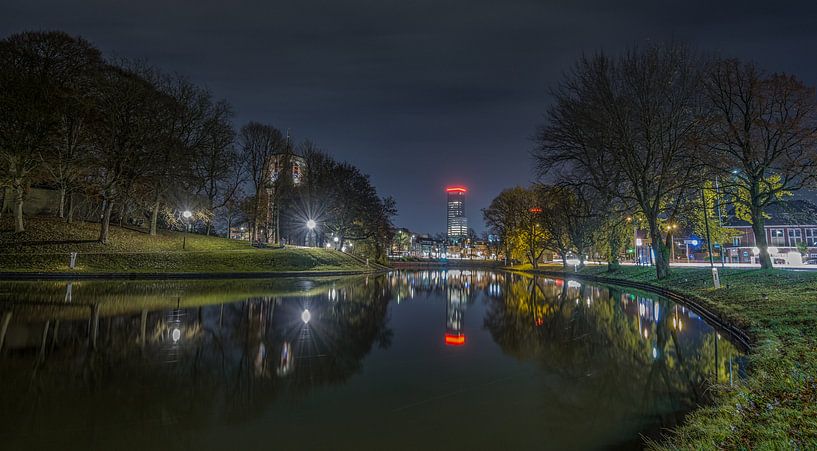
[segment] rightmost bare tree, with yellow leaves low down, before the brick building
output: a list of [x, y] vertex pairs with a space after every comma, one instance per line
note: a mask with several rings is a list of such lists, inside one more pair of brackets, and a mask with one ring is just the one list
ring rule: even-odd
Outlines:
[[706, 93], [708, 162], [725, 176], [738, 216], [751, 222], [761, 266], [771, 268], [765, 209], [817, 180], [815, 90], [793, 76], [766, 75], [728, 59], [712, 65]]

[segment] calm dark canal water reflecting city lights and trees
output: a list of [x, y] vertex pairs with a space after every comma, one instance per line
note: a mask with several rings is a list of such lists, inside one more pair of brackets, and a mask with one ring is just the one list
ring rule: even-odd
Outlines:
[[0, 283], [0, 448], [638, 449], [745, 357], [628, 288], [468, 270]]

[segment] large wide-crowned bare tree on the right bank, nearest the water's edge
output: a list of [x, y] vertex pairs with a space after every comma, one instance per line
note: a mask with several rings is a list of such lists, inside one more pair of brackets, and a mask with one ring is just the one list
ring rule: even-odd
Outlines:
[[662, 225], [698, 185], [692, 162], [703, 117], [701, 64], [680, 45], [634, 48], [616, 60], [582, 58], [555, 91], [538, 135], [542, 174], [581, 174], [643, 212], [658, 278], [669, 272]]

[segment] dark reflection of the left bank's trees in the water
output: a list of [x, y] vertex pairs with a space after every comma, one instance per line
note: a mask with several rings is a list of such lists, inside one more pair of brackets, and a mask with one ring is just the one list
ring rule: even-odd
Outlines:
[[[125, 288], [138, 290], [140, 284], [145, 283]], [[200, 307], [185, 299], [184, 284], [176, 287], [173, 299], [165, 294], [148, 302], [164, 309], [100, 318], [96, 351], [88, 346], [87, 319], [63, 319], [59, 331], [52, 321], [42, 361], [38, 339], [7, 349], [0, 358], [0, 434], [26, 436], [25, 431], [47, 428], [54, 432], [49, 436], [53, 440], [99, 423], [108, 427], [95, 432], [96, 440], [116, 435], [134, 447], [177, 440], [141, 436], [134, 425], [151, 431], [164, 425], [158, 429], [176, 434], [255, 417], [277, 398], [300, 397], [348, 379], [360, 370], [373, 344], [390, 343], [386, 321], [391, 292], [384, 278], [310, 283], [300, 287], [300, 296], [292, 296], [287, 285], [282, 295], [267, 289], [239, 302]], [[74, 296], [76, 302], [88, 301], [78, 298], [77, 291]], [[117, 294], [108, 290], [105, 296]], [[300, 335], [293, 339], [290, 333], [303, 329], [301, 306], [306, 303], [313, 313], [308, 325], [313, 340], [299, 342]], [[39, 337], [42, 323], [36, 317], [17, 315], [14, 321], [15, 333]], [[308, 349], [312, 354], [279, 377], [275, 369], [286, 340], [296, 344], [296, 355]], [[27, 435], [32, 437], [49, 438], [39, 432]], [[9, 449], [30, 447], [28, 440], [20, 446], [6, 444]]]

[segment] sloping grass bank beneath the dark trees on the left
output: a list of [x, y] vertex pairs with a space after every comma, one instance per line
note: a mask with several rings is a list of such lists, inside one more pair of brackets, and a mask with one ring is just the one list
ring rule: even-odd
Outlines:
[[68, 253], [79, 252], [82, 272], [266, 272], [362, 269], [340, 252], [323, 249], [254, 249], [246, 241], [111, 227], [110, 243], [96, 242], [98, 224], [29, 219], [23, 233], [0, 222], [0, 271], [68, 271]]

